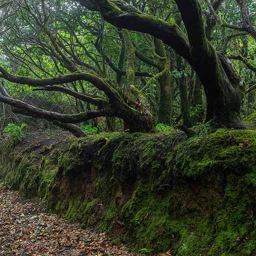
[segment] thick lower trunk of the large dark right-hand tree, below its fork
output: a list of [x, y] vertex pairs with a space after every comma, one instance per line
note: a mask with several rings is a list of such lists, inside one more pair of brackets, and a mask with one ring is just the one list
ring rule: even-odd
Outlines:
[[[197, 70], [207, 99], [206, 120], [213, 119], [227, 127], [244, 128], [240, 119], [242, 82], [225, 55], [219, 55], [216, 60], [217, 63], [205, 63], [204, 68], [200, 65]], [[208, 72], [211, 68], [215, 69], [214, 77]]]

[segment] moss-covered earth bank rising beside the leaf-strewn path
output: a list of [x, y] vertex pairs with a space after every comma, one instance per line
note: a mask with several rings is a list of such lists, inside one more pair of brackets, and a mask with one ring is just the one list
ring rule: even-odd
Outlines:
[[256, 255], [256, 130], [37, 137], [0, 146], [0, 176], [49, 211], [135, 249]]

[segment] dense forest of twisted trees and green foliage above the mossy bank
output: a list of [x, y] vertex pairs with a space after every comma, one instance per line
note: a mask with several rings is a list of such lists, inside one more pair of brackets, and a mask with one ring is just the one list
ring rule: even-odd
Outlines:
[[256, 110], [255, 0], [0, 0], [0, 31], [2, 127], [246, 128]]

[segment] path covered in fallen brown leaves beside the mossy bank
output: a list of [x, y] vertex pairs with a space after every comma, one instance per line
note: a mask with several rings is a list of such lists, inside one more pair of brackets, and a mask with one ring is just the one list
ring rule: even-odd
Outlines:
[[125, 246], [112, 246], [104, 233], [81, 229], [42, 202], [23, 200], [18, 192], [0, 190], [0, 256], [122, 255], [135, 256]]

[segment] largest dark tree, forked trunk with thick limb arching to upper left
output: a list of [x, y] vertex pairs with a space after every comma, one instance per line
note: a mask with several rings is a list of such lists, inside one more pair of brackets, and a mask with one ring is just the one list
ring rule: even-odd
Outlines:
[[80, 1], [97, 6], [103, 18], [117, 27], [149, 33], [171, 46], [197, 73], [207, 98], [206, 119], [229, 127], [243, 127], [240, 120], [241, 80], [224, 54], [208, 41], [197, 0], [175, 0], [187, 36], [176, 24], [135, 10], [121, 0]]

